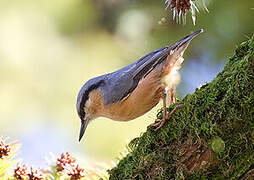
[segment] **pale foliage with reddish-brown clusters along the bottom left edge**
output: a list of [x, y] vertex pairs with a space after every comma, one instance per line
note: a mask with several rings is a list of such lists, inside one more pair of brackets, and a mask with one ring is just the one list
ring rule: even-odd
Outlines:
[[[0, 137], [0, 180], [78, 180], [78, 179], [108, 179], [106, 167], [81, 168], [77, 159], [69, 152], [62, 153], [59, 158], [50, 160], [48, 170], [28, 168], [21, 165], [20, 160], [13, 160], [17, 155], [19, 144], [7, 143], [6, 138]], [[13, 166], [16, 167], [13, 169]]]

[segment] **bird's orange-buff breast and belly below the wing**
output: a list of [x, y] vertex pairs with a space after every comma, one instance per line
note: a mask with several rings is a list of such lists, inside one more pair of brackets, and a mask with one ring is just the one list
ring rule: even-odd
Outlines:
[[103, 98], [100, 97], [101, 93], [99, 90], [95, 91], [92, 96], [101, 100], [97, 105], [94, 103], [94, 108], [98, 107], [96, 115], [116, 121], [129, 121], [148, 112], [158, 104], [164, 91], [161, 86], [161, 69], [162, 65], [156, 67], [140, 80], [137, 87], [128, 96], [114, 104], [104, 105]]

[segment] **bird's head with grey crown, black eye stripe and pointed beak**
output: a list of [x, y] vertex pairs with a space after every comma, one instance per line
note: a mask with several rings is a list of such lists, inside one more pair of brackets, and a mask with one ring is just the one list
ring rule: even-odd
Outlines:
[[89, 122], [96, 118], [94, 111], [90, 108], [91, 102], [93, 101], [90, 93], [97, 90], [102, 83], [103, 80], [91, 79], [79, 91], [76, 104], [77, 112], [81, 120], [79, 141], [82, 139]]

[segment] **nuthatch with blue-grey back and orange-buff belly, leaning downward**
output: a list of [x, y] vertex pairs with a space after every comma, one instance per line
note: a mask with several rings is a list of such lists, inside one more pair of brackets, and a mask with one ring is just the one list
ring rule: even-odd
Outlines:
[[166, 97], [170, 92], [170, 102], [173, 103], [183, 54], [191, 40], [202, 32], [203, 29], [200, 29], [117, 71], [88, 80], [80, 89], [76, 103], [81, 120], [79, 141], [92, 120], [98, 117], [115, 121], [133, 120], [151, 110], [162, 99], [163, 118], [152, 125], [156, 131], [159, 130], [177, 109], [184, 106], [179, 104], [167, 113]]

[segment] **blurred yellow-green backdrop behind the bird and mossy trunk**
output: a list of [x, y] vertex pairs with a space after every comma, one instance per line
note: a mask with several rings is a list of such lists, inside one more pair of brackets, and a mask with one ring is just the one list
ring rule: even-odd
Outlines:
[[[196, 26], [172, 20], [162, 0], [1, 0], [0, 135], [18, 140], [23, 162], [43, 166], [49, 152], [87, 162], [115, 160], [154, 121], [158, 105], [130, 122], [99, 118], [78, 142], [79, 89], [157, 48], [204, 29], [185, 53], [177, 95], [213, 79], [235, 45], [252, 36], [250, 0], [208, 0]], [[161, 18], [166, 18], [162, 22]]]

